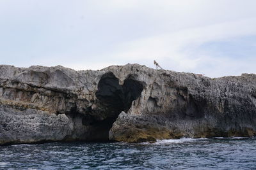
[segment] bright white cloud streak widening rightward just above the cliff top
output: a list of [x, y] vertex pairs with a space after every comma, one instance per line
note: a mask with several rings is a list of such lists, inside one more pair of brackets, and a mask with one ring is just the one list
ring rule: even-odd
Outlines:
[[[216, 56], [205, 56], [196, 53], [195, 49], [204, 43], [211, 41], [221, 41], [240, 36], [256, 35], [256, 19], [239, 20], [236, 22], [225, 22], [221, 24], [207, 25], [193, 29], [184, 29], [177, 32], [154, 36], [151, 38], [139, 39], [118, 46], [119, 53], [113, 56], [131, 60], [159, 60], [166, 69], [177, 71], [200, 71], [196, 67], [202, 67], [207, 62], [215, 63], [218, 66], [225, 66], [232, 63], [230, 56], [223, 56], [223, 59]], [[246, 26], [245, 26], [246, 25]], [[225, 59], [227, 57], [227, 59]], [[170, 65], [164, 61], [169, 60]], [[217, 64], [218, 63], [218, 64]], [[234, 64], [237, 65], [237, 64]], [[220, 67], [223, 73], [207, 73], [214, 76], [222, 76], [232, 64]], [[201, 70], [204, 72], [204, 70]]]

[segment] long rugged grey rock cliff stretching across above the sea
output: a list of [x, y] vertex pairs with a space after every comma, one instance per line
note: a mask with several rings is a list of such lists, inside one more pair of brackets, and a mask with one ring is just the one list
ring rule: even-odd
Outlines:
[[255, 135], [255, 74], [0, 66], [0, 144]]

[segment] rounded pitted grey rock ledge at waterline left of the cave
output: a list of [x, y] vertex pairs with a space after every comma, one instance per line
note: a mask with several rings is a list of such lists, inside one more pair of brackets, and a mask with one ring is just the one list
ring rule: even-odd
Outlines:
[[72, 132], [65, 114], [0, 105], [0, 143], [60, 141]]

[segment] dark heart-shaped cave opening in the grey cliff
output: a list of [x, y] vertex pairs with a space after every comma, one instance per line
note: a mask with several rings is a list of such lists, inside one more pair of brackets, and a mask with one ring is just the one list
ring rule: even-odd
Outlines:
[[116, 76], [109, 72], [104, 74], [99, 81], [96, 97], [104, 108], [106, 118], [101, 122], [100, 131], [102, 137], [108, 140], [108, 133], [118, 115], [131, 108], [132, 101], [140, 97], [143, 90], [143, 85], [140, 81], [134, 80], [131, 76], [125, 79], [123, 85], [119, 85], [119, 80]]

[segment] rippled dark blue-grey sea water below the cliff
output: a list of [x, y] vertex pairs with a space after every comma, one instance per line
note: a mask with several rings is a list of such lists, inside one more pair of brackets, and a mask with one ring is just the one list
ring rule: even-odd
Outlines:
[[0, 169], [256, 169], [256, 139], [0, 146]]

